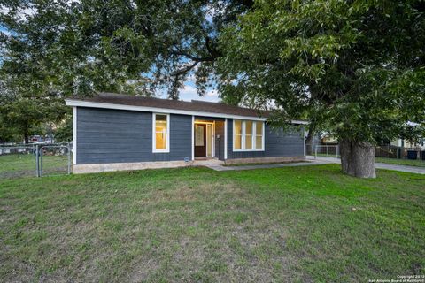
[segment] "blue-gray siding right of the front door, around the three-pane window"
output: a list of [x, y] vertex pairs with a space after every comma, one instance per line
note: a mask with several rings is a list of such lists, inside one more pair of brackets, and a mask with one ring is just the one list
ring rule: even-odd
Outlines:
[[233, 151], [233, 119], [228, 119], [228, 159], [255, 157], [302, 157], [304, 156], [304, 130], [293, 133], [275, 131], [265, 127], [264, 151]]

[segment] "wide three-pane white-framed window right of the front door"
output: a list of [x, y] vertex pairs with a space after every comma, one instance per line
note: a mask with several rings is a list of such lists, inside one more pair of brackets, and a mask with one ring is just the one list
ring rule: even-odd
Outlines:
[[263, 151], [264, 122], [233, 120], [233, 151]]

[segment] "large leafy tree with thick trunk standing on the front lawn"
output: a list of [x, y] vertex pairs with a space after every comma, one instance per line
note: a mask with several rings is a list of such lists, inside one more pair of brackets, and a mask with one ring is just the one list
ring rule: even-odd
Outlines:
[[274, 103], [276, 120], [327, 124], [343, 172], [375, 177], [377, 137], [425, 120], [424, 11], [421, 1], [259, 1], [220, 36], [220, 90]]

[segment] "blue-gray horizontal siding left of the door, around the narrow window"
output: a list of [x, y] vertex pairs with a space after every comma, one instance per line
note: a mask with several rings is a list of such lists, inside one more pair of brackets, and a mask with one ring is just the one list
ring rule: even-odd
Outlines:
[[184, 160], [191, 116], [170, 115], [170, 152], [152, 153], [152, 113], [77, 108], [77, 164]]

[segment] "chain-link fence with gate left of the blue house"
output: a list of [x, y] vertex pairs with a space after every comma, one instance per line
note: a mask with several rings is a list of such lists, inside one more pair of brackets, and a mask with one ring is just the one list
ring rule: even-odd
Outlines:
[[71, 172], [71, 145], [0, 145], [0, 178], [46, 176]]

